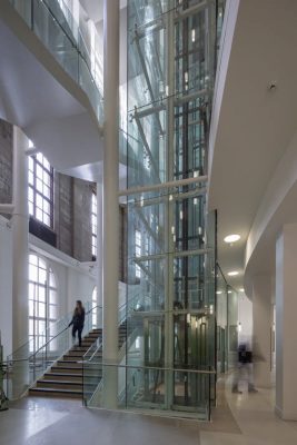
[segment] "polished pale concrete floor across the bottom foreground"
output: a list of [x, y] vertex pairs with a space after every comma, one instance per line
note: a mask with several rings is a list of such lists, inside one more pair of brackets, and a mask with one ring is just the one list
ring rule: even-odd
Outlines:
[[0, 412], [0, 445], [296, 445], [297, 422], [274, 414], [274, 392], [232, 394], [230, 378], [218, 384], [209, 424], [23, 398]]

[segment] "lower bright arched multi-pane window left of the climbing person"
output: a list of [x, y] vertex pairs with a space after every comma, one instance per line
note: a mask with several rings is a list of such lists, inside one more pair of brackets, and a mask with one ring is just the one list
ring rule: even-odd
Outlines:
[[30, 350], [50, 338], [57, 320], [57, 283], [51, 268], [37, 255], [29, 256], [29, 339]]

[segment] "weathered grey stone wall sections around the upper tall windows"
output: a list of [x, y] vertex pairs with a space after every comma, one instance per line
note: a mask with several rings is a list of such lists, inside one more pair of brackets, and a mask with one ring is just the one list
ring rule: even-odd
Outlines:
[[[12, 201], [12, 125], [0, 119], [0, 202]], [[55, 171], [53, 231], [57, 248], [79, 261], [91, 261], [91, 197], [93, 182]], [[119, 279], [126, 281], [127, 209], [119, 206]], [[98, 254], [100, 255], [100, 253]]]

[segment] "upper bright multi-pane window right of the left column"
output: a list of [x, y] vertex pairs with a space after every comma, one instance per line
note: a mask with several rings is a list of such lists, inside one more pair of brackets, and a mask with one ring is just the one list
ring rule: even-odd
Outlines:
[[29, 157], [29, 214], [53, 227], [53, 169], [42, 154]]

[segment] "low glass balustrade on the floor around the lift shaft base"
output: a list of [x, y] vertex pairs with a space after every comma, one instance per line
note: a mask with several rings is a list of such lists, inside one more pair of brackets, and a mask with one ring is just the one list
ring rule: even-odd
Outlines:
[[[117, 372], [118, 408], [143, 412], [151, 409], [155, 414], [178, 416], [187, 412], [188, 417], [200, 421], [210, 419], [210, 377], [211, 369], [168, 368], [165, 366], [139, 366], [105, 364], [95, 356], [83, 364], [85, 403], [89, 407], [102, 406], [102, 380], [92, 397], [88, 397], [92, 378], [98, 374]], [[85, 374], [83, 374], [85, 375]], [[166, 383], [172, 386], [170, 414], [167, 406]]]

